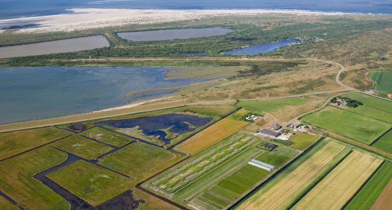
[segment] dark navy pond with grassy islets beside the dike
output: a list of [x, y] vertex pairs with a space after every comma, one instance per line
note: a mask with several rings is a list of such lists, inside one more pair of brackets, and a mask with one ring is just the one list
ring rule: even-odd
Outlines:
[[[167, 144], [170, 143], [170, 140], [173, 138], [166, 138], [166, 132], [160, 129], [166, 129], [170, 126], [173, 126], [171, 129], [169, 129], [170, 132], [183, 134], [194, 131], [197, 127], [208, 124], [211, 120], [213, 120], [213, 118], [189, 114], [169, 113], [135, 119], [109, 120], [99, 122], [98, 124], [109, 125], [118, 128], [130, 128], [139, 125], [143, 130], [143, 134], [153, 136], [159, 135], [159, 139]], [[189, 122], [195, 127], [190, 127], [189, 124], [184, 122]]]

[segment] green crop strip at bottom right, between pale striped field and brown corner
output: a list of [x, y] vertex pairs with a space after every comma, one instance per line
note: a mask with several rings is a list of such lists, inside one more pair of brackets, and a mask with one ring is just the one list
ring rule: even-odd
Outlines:
[[391, 178], [392, 162], [385, 161], [345, 209], [371, 209]]

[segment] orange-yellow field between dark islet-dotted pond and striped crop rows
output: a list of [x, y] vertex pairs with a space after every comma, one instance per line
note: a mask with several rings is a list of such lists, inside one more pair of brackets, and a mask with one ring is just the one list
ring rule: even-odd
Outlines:
[[194, 154], [216, 141], [230, 136], [247, 124], [248, 122], [245, 121], [224, 118], [192, 136], [176, 148], [179, 151]]

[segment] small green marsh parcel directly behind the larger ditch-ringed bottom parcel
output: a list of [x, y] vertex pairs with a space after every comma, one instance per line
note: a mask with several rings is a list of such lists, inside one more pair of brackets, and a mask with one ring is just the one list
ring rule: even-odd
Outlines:
[[80, 135], [69, 136], [54, 142], [52, 145], [86, 159], [95, 159], [114, 149], [111, 146], [90, 140]]

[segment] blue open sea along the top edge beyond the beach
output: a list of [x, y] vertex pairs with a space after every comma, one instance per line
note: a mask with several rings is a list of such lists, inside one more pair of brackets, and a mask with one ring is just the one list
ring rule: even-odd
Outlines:
[[300, 9], [392, 13], [392, 0], [0, 0], [0, 19], [66, 13], [69, 8]]

